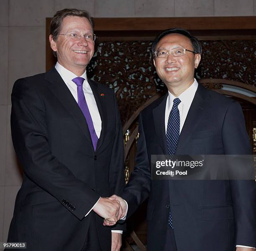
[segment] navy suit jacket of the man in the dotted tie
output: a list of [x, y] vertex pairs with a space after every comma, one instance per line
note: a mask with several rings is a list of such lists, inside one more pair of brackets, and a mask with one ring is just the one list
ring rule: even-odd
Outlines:
[[[169, 208], [179, 251], [231, 251], [256, 246], [256, 186], [251, 181], [151, 181], [151, 154], [168, 154], [168, 94], [139, 117], [136, 166], [122, 197], [128, 216], [149, 196], [148, 250], [163, 251]], [[251, 154], [241, 106], [198, 86], [180, 133], [176, 154]]]

